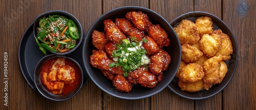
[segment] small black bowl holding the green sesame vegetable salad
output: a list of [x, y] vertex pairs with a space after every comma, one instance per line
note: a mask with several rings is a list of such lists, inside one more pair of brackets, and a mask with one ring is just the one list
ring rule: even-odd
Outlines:
[[49, 52], [51, 52], [53, 54], [57, 54], [57, 55], [70, 55], [72, 52], [74, 52], [76, 49], [78, 49], [78, 47], [81, 45], [82, 39], [83, 39], [83, 28], [82, 28], [81, 24], [79, 23], [79, 21], [77, 20], [77, 18], [75, 16], [73, 16], [72, 14], [70, 14], [70, 13], [68, 13], [66, 11], [62, 11], [62, 10], [52, 10], [52, 11], [48, 11], [48, 12], [45, 12], [45, 13], [42, 13], [42, 14], [38, 15], [35, 18], [34, 25], [33, 25], [34, 37], [36, 38], [36, 36], [37, 36], [38, 32], [37, 32], [36, 28], [39, 27], [40, 19], [42, 19], [44, 17], [49, 17], [49, 15], [55, 15], [55, 14], [58, 14], [60, 16], [64, 16], [64, 17], [66, 17], [68, 19], [72, 19], [76, 23], [76, 25], [78, 27], [78, 30], [80, 32], [80, 38], [77, 39], [76, 46], [73, 49], [71, 49], [71, 50], [69, 50], [67, 52], [62, 52], [62, 53], [60, 53], [60, 52], [52, 52], [52, 51], [49, 51]]

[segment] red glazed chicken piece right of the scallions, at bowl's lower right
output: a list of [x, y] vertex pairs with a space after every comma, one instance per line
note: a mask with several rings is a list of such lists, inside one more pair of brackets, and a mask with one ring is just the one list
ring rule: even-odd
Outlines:
[[153, 54], [150, 58], [150, 64], [148, 65], [148, 69], [153, 74], [160, 74], [162, 71], [166, 71], [168, 68], [168, 64], [170, 63], [171, 58], [169, 54], [162, 49], [160, 49], [157, 53]]

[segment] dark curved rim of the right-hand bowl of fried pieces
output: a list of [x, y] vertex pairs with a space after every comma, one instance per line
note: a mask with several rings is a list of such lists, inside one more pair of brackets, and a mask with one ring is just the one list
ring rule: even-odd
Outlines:
[[[215, 24], [222, 24], [224, 26], [225, 29], [227, 29], [228, 33], [231, 34], [231, 36], [229, 37], [232, 37], [233, 39], [233, 42], [234, 42], [234, 47], [235, 49], [233, 49], [233, 52], [238, 52], [238, 47], [237, 47], [237, 41], [236, 41], [236, 38], [234, 37], [232, 31], [229, 29], [229, 27], [224, 23], [224, 21], [222, 21], [219, 17], [213, 15], [213, 14], [210, 14], [210, 13], [207, 13], [207, 12], [201, 12], [201, 11], [194, 11], [194, 12], [188, 12], [188, 13], [185, 13], [185, 14], [182, 14], [180, 15], [179, 17], [175, 18], [173, 21], [171, 21], [170, 25], [173, 27], [174, 25], [176, 25], [177, 23], [179, 23], [179, 21], [181, 21], [181, 19], [186, 19], [186, 18], [189, 18], [189, 17], [198, 17], [198, 16], [208, 16], [210, 18], [214, 18], [214, 19], [217, 19], [217, 22], [215, 22]], [[232, 43], [233, 45], [233, 43]], [[185, 96], [185, 95], [182, 95], [180, 94], [179, 92], [175, 91], [171, 86], [170, 84], [173, 82], [171, 82], [169, 85], [168, 85], [168, 88], [174, 92], [175, 94], [183, 97], [183, 98], [187, 98], [187, 99], [191, 99], [191, 100], [201, 100], [201, 99], [206, 99], [206, 98], [210, 98], [212, 96], [215, 96], [217, 95], [218, 93], [220, 93], [226, 86], [227, 84], [230, 82], [230, 80], [232, 79], [233, 75], [234, 75], [234, 72], [236, 72], [236, 69], [237, 69], [237, 64], [238, 64], [238, 53], [236, 53], [236, 56], [235, 57], [231, 57], [231, 58], [234, 58], [236, 60], [236, 62], [234, 63], [234, 69], [232, 70], [232, 74], [231, 74], [231, 77], [228, 78], [228, 81], [227, 83], [225, 83], [220, 89], [218, 89], [217, 92], [215, 92], [214, 94], [211, 94], [211, 95], [208, 95], [206, 97], [189, 97], [189, 96]], [[209, 90], [210, 91], [210, 90]], [[202, 92], [203, 93], [203, 92]]]

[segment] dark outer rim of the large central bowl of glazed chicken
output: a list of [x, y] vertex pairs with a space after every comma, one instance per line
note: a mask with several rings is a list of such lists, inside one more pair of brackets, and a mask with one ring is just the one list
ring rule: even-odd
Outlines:
[[[106, 13], [104, 13], [103, 15], [101, 15], [93, 24], [92, 24], [92, 26], [91, 26], [91, 28], [88, 30], [88, 32], [92, 32], [93, 31], [93, 27], [99, 22], [99, 21], [101, 21], [101, 19], [102, 18], [104, 18], [104, 17], [108, 17], [109, 15], [108, 14], [110, 14], [110, 13], [113, 13], [113, 12], [115, 12], [115, 11], [119, 11], [119, 10], [125, 10], [125, 9], [127, 9], [127, 10], [141, 10], [142, 12], [143, 11], [147, 11], [147, 12], [150, 12], [150, 13], [154, 13], [154, 15], [156, 15], [156, 16], [158, 16], [161, 20], [163, 20], [164, 21], [164, 23], [166, 23], [167, 25], [168, 25], [168, 27], [171, 29], [171, 31], [175, 34], [175, 36], [177, 37], [177, 39], [178, 39], [178, 36], [176, 35], [176, 33], [175, 33], [175, 31], [174, 31], [174, 29], [169, 25], [169, 23], [161, 16], [161, 15], [159, 15], [158, 13], [156, 13], [156, 12], [154, 12], [153, 10], [150, 10], [150, 9], [147, 9], [147, 8], [144, 8], [144, 7], [138, 7], [138, 6], [124, 6], [124, 7], [119, 7], [119, 8], [115, 8], [115, 9], [113, 9], [113, 10], [110, 10], [110, 11], [108, 11], [108, 12], [106, 12]], [[87, 33], [87, 35], [86, 35], [86, 42], [84, 43], [84, 45], [83, 45], [83, 50], [85, 50], [84, 48], [86, 47], [86, 45], [89, 43], [89, 39], [90, 39], [90, 35], [89, 35], [90, 33]], [[177, 40], [178, 41], [178, 40]], [[180, 47], [180, 45], [179, 45], [179, 49], [181, 50], [181, 47]], [[86, 54], [86, 52], [85, 51], [83, 51], [83, 56], [84, 56], [84, 54]], [[181, 51], [180, 51], [180, 53], [179, 53], [180, 55], [181, 55]], [[179, 59], [181, 59], [181, 56], [179, 57]], [[86, 62], [87, 61], [87, 62]], [[179, 61], [180, 62], [180, 61]], [[96, 79], [96, 78], [94, 78], [92, 75], [91, 75], [91, 65], [89, 64], [89, 61], [88, 61], [88, 59], [86, 58], [86, 57], [83, 57], [83, 63], [84, 63], [84, 65], [85, 65], [85, 68], [86, 68], [86, 70], [87, 70], [87, 73], [88, 73], [88, 75], [90, 76], [90, 78], [92, 79], [92, 81], [102, 90], [102, 91], [104, 91], [105, 93], [107, 93], [107, 94], [109, 94], [109, 95], [111, 95], [111, 96], [114, 96], [114, 97], [117, 97], [117, 98], [121, 98], [121, 99], [128, 99], [128, 100], [137, 100], [137, 99], [143, 99], [143, 98], [147, 98], [147, 97], [151, 97], [151, 96], [153, 96], [153, 95], [155, 95], [155, 94], [157, 94], [157, 93], [159, 93], [159, 92], [161, 92], [163, 89], [165, 89], [165, 87], [170, 83], [170, 81], [172, 81], [172, 79], [175, 77], [175, 75], [174, 76], [172, 76], [172, 77], [169, 77], [169, 80], [168, 80], [168, 82], [166, 83], [166, 84], [164, 84], [164, 87], [161, 87], [161, 89], [159, 89], [159, 90], [157, 90], [156, 92], [154, 92], [154, 93], [151, 93], [151, 94], [147, 94], [147, 95], [140, 95], [140, 96], [136, 96], [136, 97], [131, 97], [131, 96], [129, 96], [129, 95], [125, 95], [125, 96], [118, 96], [118, 95], [116, 95], [116, 94], [114, 94], [114, 93], [112, 93], [112, 92], [110, 92], [110, 91], [113, 91], [112, 89], [104, 89], [104, 86], [100, 86], [100, 84], [98, 84], [98, 82], [97, 82], [97, 80], [98, 79]], [[178, 71], [178, 68], [175, 70], [176, 72]], [[175, 73], [176, 73], [175, 72]], [[114, 87], [114, 86], [113, 86]], [[127, 93], [127, 94], [129, 94], [129, 93]]]

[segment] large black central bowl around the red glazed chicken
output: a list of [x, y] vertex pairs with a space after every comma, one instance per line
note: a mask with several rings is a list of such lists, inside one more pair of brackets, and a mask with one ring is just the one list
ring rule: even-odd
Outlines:
[[[153, 24], [159, 24], [168, 34], [168, 37], [170, 39], [170, 45], [169, 47], [163, 48], [168, 54], [172, 57], [172, 61], [169, 64], [169, 68], [167, 71], [164, 72], [164, 77], [161, 82], [159, 82], [156, 87], [153, 89], [146, 89], [141, 86], [134, 86], [132, 91], [130, 93], [123, 93], [118, 92], [114, 85], [112, 84], [112, 81], [109, 79], [106, 79], [101, 71], [99, 69], [94, 68], [90, 64], [90, 56], [92, 55], [92, 51], [96, 48], [92, 45], [92, 32], [94, 30], [98, 30], [100, 32], [103, 32], [103, 20], [105, 19], [112, 19], [114, 21], [115, 18], [123, 18], [125, 17], [125, 14], [130, 11], [142, 11], [143, 13], [147, 14], [147, 16], [150, 18]], [[142, 99], [146, 97], [150, 97], [152, 95], [155, 95], [162, 91], [174, 78], [180, 64], [181, 60], [181, 47], [179, 43], [178, 36], [176, 35], [173, 28], [169, 25], [169, 23], [159, 14], [156, 12], [143, 8], [143, 7], [136, 7], [136, 6], [126, 6], [126, 7], [120, 7], [113, 9], [109, 12], [104, 13], [102, 16], [100, 16], [91, 26], [89, 29], [86, 38], [84, 40], [83, 45], [83, 62], [85, 65], [85, 68], [87, 70], [87, 73], [89, 74], [92, 81], [105, 93], [121, 98], [121, 99]]]

